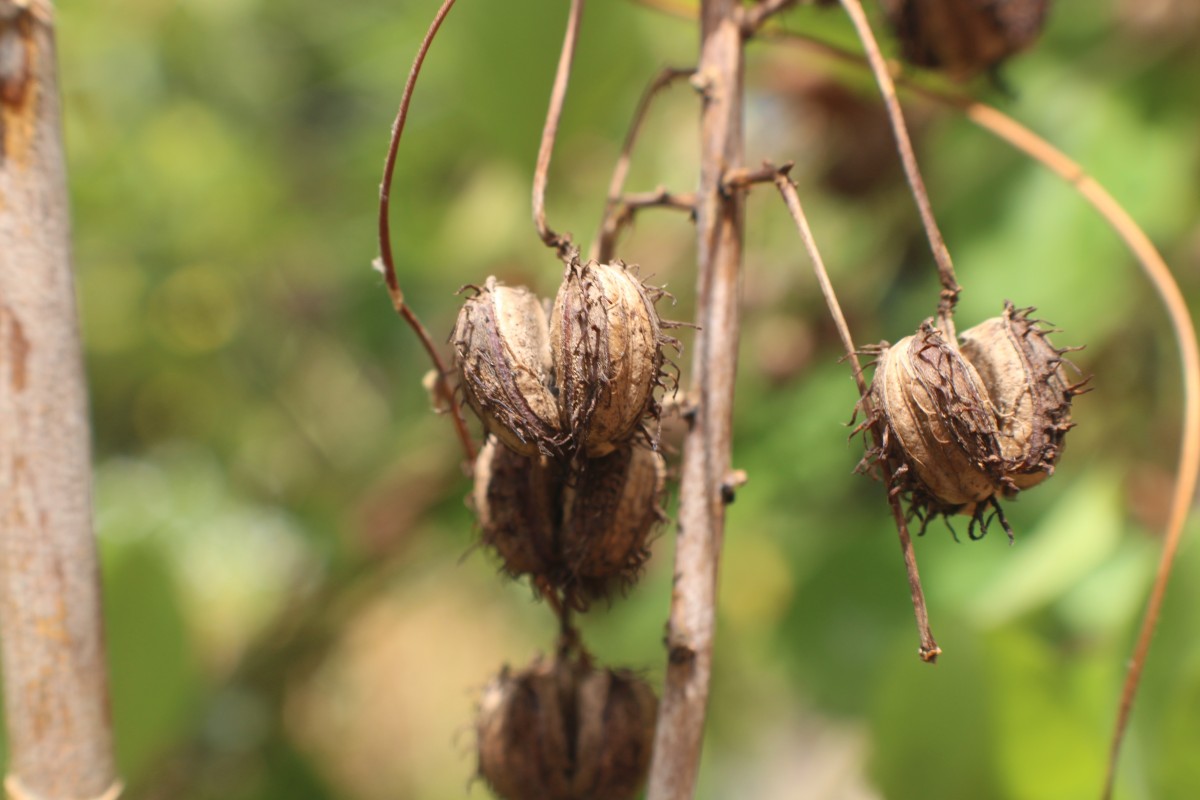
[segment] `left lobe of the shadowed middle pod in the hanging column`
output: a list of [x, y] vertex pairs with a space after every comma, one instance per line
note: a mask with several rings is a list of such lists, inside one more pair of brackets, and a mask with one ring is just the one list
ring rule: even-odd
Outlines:
[[562, 572], [558, 545], [562, 469], [545, 456], [522, 456], [488, 437], [475, 458], [472, 500], [484, 543], [512, 576]]

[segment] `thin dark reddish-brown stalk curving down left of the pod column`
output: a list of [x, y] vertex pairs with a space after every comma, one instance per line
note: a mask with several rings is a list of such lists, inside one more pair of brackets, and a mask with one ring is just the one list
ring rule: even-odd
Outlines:
[[437, 14], [433, 16], [433, 22], [430, 23], [430, 28], [425, 32], [425, 38], [421, 40], [421, 46], [416, 50], [416, 58], [413, 59], [413, 66], [408, 71], [408, 79], [404, 82], [404, 94], [400, 100], [400, 110], [396, 112], [396, 121], [391, 126], [391, 139], [388, 143], [388, 156], [384, 158], [383, 166], [383, 180], [379, 182], [379, 259], [376, 261], [376, 269], [383, 272], [384, 282], [388, 284], [388, 295], [391, 297], [391, 305], [396, 309], [396, 313], [413, 329], [416, 338], [421, 342], [421, 347], [425, 348], [425, 353], [428, 354], [430, 361], [433, 362], [433, 368], [437, 371], [436, 391], [442, 398], [443, 404], [450, 409], [450, 420], [454, 422], [455, 432], [458, 434], [458, 441], [462, 444], [467, 461], [473, 462], [475, 461], [475, 445], [472, 443], [470, 433], [467, 431], [467, 421], [463, 420], [462, 411], [455, 402], [450, 381], [446, 380], [446, 375], [450, 372], [446, 369], [442, 355], [433, 344], [430, 332], [421, 324], [421, 320], [418, 319], [413, 309], [408, 307], [408, 303], [404, 302], [404, 293], [401, 291], [400, 281], [396, 278], [396, 261], [391, 252], [391, 182], [396, 173], [396, 154], [400, 150], [400, 138], [404, 133], [404, 122], [408, 120], [408, 107], [413, 100], [413, 90], [416, 89], [416, 78], [421, 74], [421, 65], [425, 64], [425, 54], [430, 52], [430, 46], [433, 44], [433, 38], [438, 35], [438, 30], [442, 28], [442, 23], [445, 20], [446, 14], [450, 13], [454, 4], [455, 0], [443, 0]]

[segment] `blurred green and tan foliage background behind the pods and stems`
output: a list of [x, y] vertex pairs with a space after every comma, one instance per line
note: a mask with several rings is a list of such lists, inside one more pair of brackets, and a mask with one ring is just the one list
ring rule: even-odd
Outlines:
[[[119, 760], [130, 796], [486, 798], [479, 690], [553, 642], [528, 587], [476, 545], [428, 363], [371, 267], [389, 126], [436, 4], [60, 4], [59, 48], [95, 419]], [[464, 1], [401, 146], [401, 281], [438, 341], [455, 291], [551, 294], [529, 222], [566, 4]], [[838, 10], [786, 24], [851, 43]], [[695, 28], [593, 2], [551, 174], [551, 224], [589, 242], [637, 96]], [[1075, 157], [1139, 219], [1200, 309], [1200, 12], [1060, 0], [974, 90]], [[932, 313], [877, 92], [788, 44], [751, 48], [748, 161], [793, 175], [856, 338]], [[1079, 197], [954, 112], [908, 104], [965, 287], [960, 325], [1036, 305], [1094, 374], [1054, 480], [994, 530], [917, 542], [936, 667], [878, 483], [853, 475], [857, 398], [782, 205], [748, 206], [736, 467], [700, 796], [1097, 796], [1178, 449], [1159, 303]], [[697, 98], [650, 115], [630, 188], [695, 186]], [[620, 255], [691, 314], [692, 230], [648, 211]], [[684, 338], [689, 338], [686, 335]], [[686, 367], [689, 355], [680, 359]], [[686, 369], [684, 374], [686, 383]], [[1200, 549], [1190, 541], [1120, 796], [1200, 792]], [[583, 620], [607, 663], [661, 679], [672, 529], [643, 581]]]

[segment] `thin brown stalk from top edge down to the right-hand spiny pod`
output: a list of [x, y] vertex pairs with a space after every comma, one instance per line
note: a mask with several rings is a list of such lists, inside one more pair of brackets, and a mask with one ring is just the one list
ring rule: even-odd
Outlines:
[[929, 192], [925, 191], [925, 180], [920, 176], [920, 169], [917, 167], [917, 156], [912, 149], [912, 139], [908, 137], [908, 126], [905, 125], [904, 113], [900, 110], [900, 101], [896, 98], [896, 88], [892, 80], [892, 73], [888, 71], [883, 54], [880, 52], [878, 42], [875, 41], [875, 34], [871, 31], [871, 24], [866, 19], [866, 12], [863, 11], [863, 4], [859, 0], [840, 0], [840, 2], [850, 16], [859, 41], [863, 43], [863, 49], [866, 52], [866, 61], [871, 66], [875, 82], [878, 84], [880, 94], [883, 96], [883, 104], [892, 122], [892, 132], [896, 140], [900, 162], [904, 164], [904, 173], [908, 179], [908, 187], [912, 190], [913, 200], [917, 201], [917, 210], [920, 212], [920, 223], [925, 228], [929, 248], [934, 253], [934, 260], [937, 263], [937, 275], [942, 282], [942, 295], [937, 303], [937, 326], [946, 336], [947, 342], [954, 342], [956, 339], [954, 332], [954, 306], [959, 300], [961, 288], [954, 277], [954, 264], [950, 261], [950, 253], [946, 248], [942, 231], [937, 227], [937, 219], [934, 218], [934, 209], [929, 203]]

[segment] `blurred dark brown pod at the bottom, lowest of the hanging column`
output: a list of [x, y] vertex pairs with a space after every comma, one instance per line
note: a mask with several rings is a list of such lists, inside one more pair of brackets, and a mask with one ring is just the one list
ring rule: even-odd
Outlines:
[[632, 800], [656, 712], [644, 681], [587, 656], [505, 668], [480, 702], [479, 774], [504, 800]]

